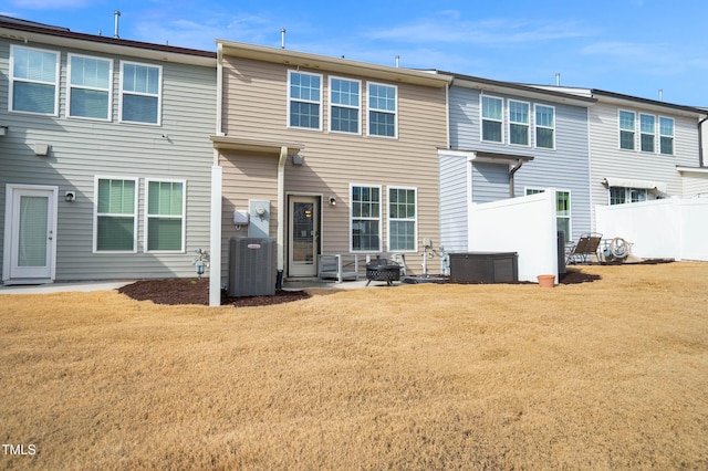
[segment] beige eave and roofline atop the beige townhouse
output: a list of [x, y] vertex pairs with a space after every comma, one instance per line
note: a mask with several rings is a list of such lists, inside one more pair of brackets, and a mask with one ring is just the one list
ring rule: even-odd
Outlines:
[[350, 59], [330, 57], [289, 49], [269, 48], [220, 39], [217, 39], [216, 42], [217, 49], [218, 45], [221, 45], [223, 55], [283, 64], [290, 67], [322, 70], [437, 88], [442, 88], [452, 81], [451, 77], [439, 75], [435, 72], [377, 65]]

